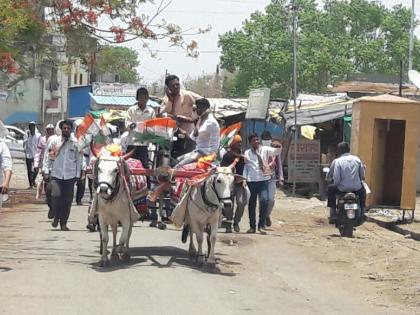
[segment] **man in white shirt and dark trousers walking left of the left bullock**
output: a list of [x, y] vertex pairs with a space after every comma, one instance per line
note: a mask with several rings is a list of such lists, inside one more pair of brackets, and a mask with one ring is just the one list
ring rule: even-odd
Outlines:
[[51, 178], [51, 204], [54, 212], [53, 227], [60, 223], [62, 231], [69, 231], [67, 221], [70, 216], [74, 195], [74, 184], [80, 177], [82, 154], [78, 151], [77, 140], [71, 136], [72, 123], [60, 123], [61, 136], [48, 143], [48, 159], [43, 165], [44, 179]]

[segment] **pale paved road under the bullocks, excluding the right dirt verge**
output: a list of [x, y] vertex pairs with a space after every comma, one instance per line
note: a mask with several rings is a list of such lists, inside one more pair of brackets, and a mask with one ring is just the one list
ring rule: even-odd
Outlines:
[[43, 205], [3, 209], [0, 314], [400, 313], [370, 304], [366, 282], [330, 272], [278, 230], [220, 234], [218, 269], [208, 272], [187, 257], [179, 231], [138, 223], [131, 261], [99, 268], [86, 212], [74, 207], [72, 230], [61, 232], [50, 227]]

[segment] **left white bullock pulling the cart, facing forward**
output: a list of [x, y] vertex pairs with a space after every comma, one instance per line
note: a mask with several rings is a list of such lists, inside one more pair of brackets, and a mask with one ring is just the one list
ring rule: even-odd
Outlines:
[[[133, 222], [139, 218], [130, 197], [130, 191], [125, 181], [129, 169], [124, 158], [101, 156], [95, 163], [94, 180], [96, 192], [92, 203], [89, 219], [92, 222], [95, 214], [99, 218], [101, 231], [101, 266], [106, 266], [108, 260], [108, 226], [111, 226], [113, 245], [111, 259], [129, 259], [129, 241]], [[121, 223], [122, 232], [119, 245], [116, 245], [117, 228]]]

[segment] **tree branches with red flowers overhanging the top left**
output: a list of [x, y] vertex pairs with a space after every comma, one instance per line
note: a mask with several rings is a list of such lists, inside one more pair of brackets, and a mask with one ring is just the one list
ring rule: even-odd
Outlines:
[[[155, 4], [153, 14], [141, 11], [146, 3]], [[66, 47], [68, 56], [85, 55], [90, 62], [95, 60], [86, 58], [92, 49], [87, 42], [119, 44], [140, 40], [149, 49], [149, 41], [167, 39], [190, 56], [197, 56], [197, 43], [187, 43], [185, 36], [207, 30], [187, 34], [178, 25], [158, 21], [171, 3], [172, 0], [1, 0], [0, 71], [7, 75], [17, 72], [24, 79], [24, 73], [27, 77], [35, 68], [34, 62], [28, 60], [54, 61], [57, 48], [44, 39], [57, 33], [72, 43], [72, 47]]]

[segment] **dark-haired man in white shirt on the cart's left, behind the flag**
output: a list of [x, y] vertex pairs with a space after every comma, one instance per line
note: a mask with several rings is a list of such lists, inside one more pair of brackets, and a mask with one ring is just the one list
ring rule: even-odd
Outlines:
[[155, 110], [147, 105], [149, 92], [145, 88], [139, 88], [136, 93], [137, 104], [131, 106], [127, 111], [125, 127], [129, 130], [127, 152], [134, 150], [133, 158], [140, 160], [144, 168], [149, 168], [149, 152], [147, 143], [133, 141], [132, 135], [136, 124], [156, 117]]

